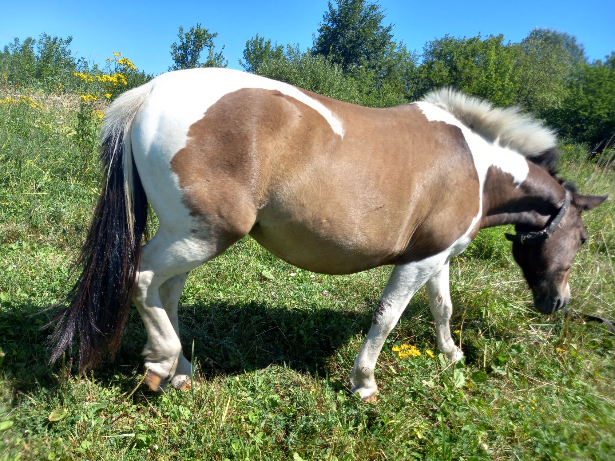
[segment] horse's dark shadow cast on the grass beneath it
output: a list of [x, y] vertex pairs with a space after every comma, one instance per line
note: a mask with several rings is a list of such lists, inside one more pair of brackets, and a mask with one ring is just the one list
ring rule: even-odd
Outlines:
[[[238, 371], [264, 369], [271, 364], [285, 364], [296, 371], [321, 376], [332, 355], [360, 333], [367, 334], [373, 310], [365, 300], [360, 309], [328, 307], [294, 307], [229, 302], [180, 305], [180, 336], [186, 358], [190, 360], [192, 341], [194, 357], [202, 374], [215, 376]], [[33, 313], [33, 305], [5, 304], [0, 315], [0, 368], [5, 379], [17, 390], [36, 385], [57, 385], [54, 373], [60, 368], [49, 366], [47, 345], [49, 329], [42, 330], [51, 313]], [[146, 333], [137, 309], [131, 308], [122, 345], [114, 360], [101, 363], [95, 376], [105, 382], [122, 381], [122, 376], [142, 372], [141, 350]], [[73, 350], [73, 352], [76, 352]], [[352, 357], [347, 357], [352, 363]], [[66, 363], [70, 363], [70, 354]], [[77, 374], [77, 364], [71, 372]], [[122, 386], [123, 387], [123, 386]]]

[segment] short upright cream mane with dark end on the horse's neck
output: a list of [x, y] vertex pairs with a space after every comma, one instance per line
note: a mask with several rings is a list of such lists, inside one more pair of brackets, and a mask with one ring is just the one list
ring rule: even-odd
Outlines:
[[496, 108], [489, 101], [451, 88], [428, 93], [423, 101], [450, 112], [486, 140], [513, 149], [555, 173], [559, 157], [555, 130], [524, 114], [520, 108]]

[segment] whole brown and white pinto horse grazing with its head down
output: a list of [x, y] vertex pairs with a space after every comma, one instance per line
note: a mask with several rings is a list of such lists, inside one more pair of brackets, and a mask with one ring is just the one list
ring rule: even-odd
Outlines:
[[[174, 71], [117, 97], [100, 141], [105, 179], [51, 360], [75, 332], [81, 370], [113, 356], [133, 301], [154, 391], [190, 383], [177, 318], [188, 272], [246, 235], [312, 272], [394, 265], [350, 376], [371, 400], [384, 341], [424, 284], [438, 349], [461, 360], [449, 263], [478, 230], [515, 224], [514, 259], [552, 313], [587, 239], [581, 211], [607, 198], [555, 175], [553, 130], [452, 89], [382, 109], [231, 69]], [[148, 203], [159, 228], [141, 245]]]

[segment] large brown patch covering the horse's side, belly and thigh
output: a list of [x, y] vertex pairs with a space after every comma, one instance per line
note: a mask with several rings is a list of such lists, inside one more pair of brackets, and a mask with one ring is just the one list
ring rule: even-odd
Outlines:
[[171, 161], [184, 203], [228, 242], [250, 232], [303, 269], [347, 274], [448, 248], [478, 213], [478, 176], [458, 127], [414, 104], [372, 109], [305, 92], [228, 93]]

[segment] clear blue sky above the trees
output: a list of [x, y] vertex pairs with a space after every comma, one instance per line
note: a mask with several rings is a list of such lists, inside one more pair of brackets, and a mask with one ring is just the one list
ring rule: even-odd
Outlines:
[[[386, 23], [394, 23], [394, 36], [408, 49], [448, 33], [453, 36], [504, 34], [520, 41], [536, 26], [555, 28], [577, 37], [590, 59], [615, 50], [614, 0], [560, 1], [397, 1], [381, 0]], [[240, 68], [245, 41], [257, 32], [280, 44], [312, 45], [312, 34], [327, 10], [327, 1], [175, 1], [50, 2], [27, 4], [2, 1], [0, 42], [13, 37], [38, 37], [42, 32], [73, 36], [77, 57], [102, 63], [114, 51], [122, 52], [138, 68], [159, 74], [169, 67], [169, 45], [177, 40], [180, 25], [201, 23], [218, 32], [216, 50], [224, 44], [229, 67]]]

